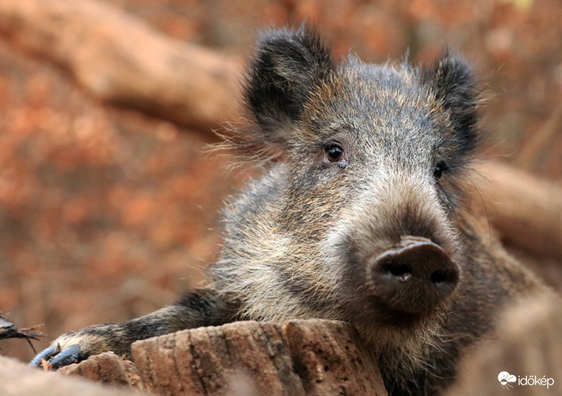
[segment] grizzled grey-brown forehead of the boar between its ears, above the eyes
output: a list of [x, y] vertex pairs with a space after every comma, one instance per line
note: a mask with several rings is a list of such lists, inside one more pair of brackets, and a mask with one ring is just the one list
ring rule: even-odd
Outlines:
[[345, 136], [356, 160], [426, 164], [446, 146], [447, 118], [416, 70], [350, 60], [318, 88], [303, 112], [303, 146]]

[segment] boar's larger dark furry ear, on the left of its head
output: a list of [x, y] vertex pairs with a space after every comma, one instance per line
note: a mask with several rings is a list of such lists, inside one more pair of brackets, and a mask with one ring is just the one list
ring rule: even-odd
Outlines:
[[264, 143], [282, 143], [287, 126], [300, 119], [304, 103], [333, 72], [334, 62], [318, 34], [304, 25], [265, 32], [256, 49], [244, 87], [247, 105]]

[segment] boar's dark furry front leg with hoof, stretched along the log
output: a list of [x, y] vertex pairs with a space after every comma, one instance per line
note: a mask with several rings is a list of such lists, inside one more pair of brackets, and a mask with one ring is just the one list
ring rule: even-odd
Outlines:
[[41, 360], [45, 359], [53, 369], [58, 369], [107, 351], [130, 358], [134, 341], [183, 329], [233, 322], [238, 308], [239, 304], [233, 299], [216, 291], [192, 291], [174, 305], [129, 322], [96, 324], [63, 334], [34, 357], [30, 366], [40, 366]]

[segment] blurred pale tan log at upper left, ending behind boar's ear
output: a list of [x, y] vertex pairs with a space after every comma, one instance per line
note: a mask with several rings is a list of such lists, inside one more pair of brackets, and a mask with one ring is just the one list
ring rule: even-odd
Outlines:
[[239, 117], [240, 60], [171, 39], [110, 4], [3, 0], [0, 33], [101, 100], [209, 132]]

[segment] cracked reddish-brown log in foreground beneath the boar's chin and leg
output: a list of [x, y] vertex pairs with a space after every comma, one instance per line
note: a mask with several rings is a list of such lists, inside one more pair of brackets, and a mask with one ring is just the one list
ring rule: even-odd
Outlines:
[[156, 395], [386, 395], [374, 357], [343, 322], [235, 322], [137, 341], [132, 354], [135, 364], [106, 353], [60, 371], [132, 377]]

